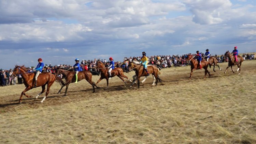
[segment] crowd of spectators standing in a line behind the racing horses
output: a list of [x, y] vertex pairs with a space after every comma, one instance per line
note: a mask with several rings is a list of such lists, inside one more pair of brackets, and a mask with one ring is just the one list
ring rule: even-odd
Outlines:
[[[188, 65], [188, 63], [186, 63], [186, 57], [189, 54], [186, 55], [156, 55], [156, 56], [148, 56], [148, 64], [155, 64], [157, 67], [159, 68], [170, 68], [170, 67], [185, 67]], [[202, 57], [204, 57], [204, 54], [202, 53]], [[228, 58], [225, 58], [224, 55], [221, 56], [217, 56], [215, 55], [215, 57], [217, 58], [218, 62], [227, 62]], [[242, 55], [244, 60], [254, 60], [255, 56], [254, 54], [243, 54]], [[125, 57], [123, 62], [120, 61], [116, 61], [115, 62], [115, 67], [117, 68], [122, 68], [124, 70], [124, 72], [128, 72], [128, 64], [129, 62], [131, 62], [132, 60], [138, 60], [140, 61], [142, 58], [141, 57]], [[80, 67], [81, 67], [81, 71], [83, 70], [88, 70], [88, 71], [95, 71], [95, 69], [93, 69], [96, 66], [96, 62], [97, 61], [101, 61], [102, 63], [104, 63], [105, 66], [107, 66], [109, 64], [109, 60], [106, 59], [94, 59], [94, 60], [82, 60], [80, 62]], [[42, 72], [50, 72], [52, 74], [55, 74], [57, 68], [69, 68], [71, 67], [71, 65], [67, 65], [67, 64], [59, 64], [59, 65], [55, 65], [52, 66], [52, 64], [50, 63], [49, 66], [47, 64], [45, 64]], [[27, 68], [28, 72], [33, 72], [33, 67], [29, 67]], [[16, 79], [18, 80], [18, 84], [22, 84], [23, 83], [23, 79], [21, 75], [18, 75], [17, 77], [15, 77], [13, 80], [11, 79], [10, 75], [12, 73], [12, 69], [10, 70], [0, 70], [0, 85], [1, 86], [8, 86], [8, 85], [16, 85]]]

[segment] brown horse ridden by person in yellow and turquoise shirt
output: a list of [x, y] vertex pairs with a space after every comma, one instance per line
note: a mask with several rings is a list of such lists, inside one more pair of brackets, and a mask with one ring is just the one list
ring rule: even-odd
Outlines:
[[[131, 69], [134, 69], [135, 74], [136, 74], [136, 79], [132, 82], [131, 86], [135, 83], [136, 80], [138, 80], [138, 88], [140, 88], [140, 77], [147, 76], [147, 72], [143, 69], [143, 66], [141, 66], [140, 64], [136, 64], [134, 62], [129, 63], [129, 70], [131, 70]], [[157, 82], [160, 79], [158, 76], [158, 73], [160, 74], [159, 69], [156, 66], [152, 65], [152, 66], [147, 67], [147, 71], [148, 71], [148, 73], [153, 75], [154, 82], [155, 82], [155, 78], [156, 78], [156, 85], [157, 85]]]

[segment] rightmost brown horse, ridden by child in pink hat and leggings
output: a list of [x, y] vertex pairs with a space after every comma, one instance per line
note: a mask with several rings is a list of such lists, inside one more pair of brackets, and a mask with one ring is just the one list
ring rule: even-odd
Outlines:
[[229, 51], [227, 51], [227, 52], [225, 53], [225, 57], [228, 58], [228, 67], [226, 68], [226, 70], [225, 70], [224, 73], [226, 73], [226, 71], [227, 71], [227, 69], [228, 69], [229, 67], [231, 67], [231, 70], [232, 70], [232, 72], [234, 73], [234, 70], [232, 69], [232, 66], [236, 66], [236, 65], [237, 65], [237, 67], [238, 67], [237, 71], [239, 70], [238, 75], [240, 75], [241, 64], [242, 64], [242, 62], [244, 61], [244, 59], [243, 59], [241, 56], [237, 56], [237, 63], [235, 63], [235, 58], [234, 58], [233, 55], [231, 55], [231, 54], [229, 53]]

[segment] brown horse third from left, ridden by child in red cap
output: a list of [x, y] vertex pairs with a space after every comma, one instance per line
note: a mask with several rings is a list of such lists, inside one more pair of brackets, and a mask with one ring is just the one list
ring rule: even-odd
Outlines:
[[[97, 61], [96, 66], [94, 67], [96, 69], [99, 69], [100, 73], [100, 79], [96, 84], [98, 84], [102, 79], [106, 79], [107, 81], [107, 87], [109, 87], [109, 74], [108, 74], [108, 68], [105, 68], [104, 64], [101, 61]], [[111, 71], [111, 77], [118, 76], [122, 81], [124, 81], [125, 85], [127, 84], [124, 78], [127, 78], [130, 82], [132, 82], [127, 76], [124, 75], [124, 72], [122, 68], [115, 68]], [[124, 78], [123, 78], [124, 77]]]

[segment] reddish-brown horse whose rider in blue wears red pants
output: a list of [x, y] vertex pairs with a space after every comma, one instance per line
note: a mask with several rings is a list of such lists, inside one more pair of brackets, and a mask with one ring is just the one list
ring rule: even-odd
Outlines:
[[[191, 79], [191, 76], [192, 76], [194, 70], [200, 69], [200, 65], [199, 65], [198, 61], [193, 58], [194, 57], [192, 55], [188, 55], [188, 57], [186, 58], [186, 62], [187, 61], [191, 62], [191, 72], [190, 72], [189, 79]], [[204, 69], [204, 78], [206, 77], [207, 73], [209, 74], [209, 77], [211, 77], [209, 71], [207, 70], [209, 62], [206, 60], [202, 60], [201, 65], [202, 65], [202, 68]]]

